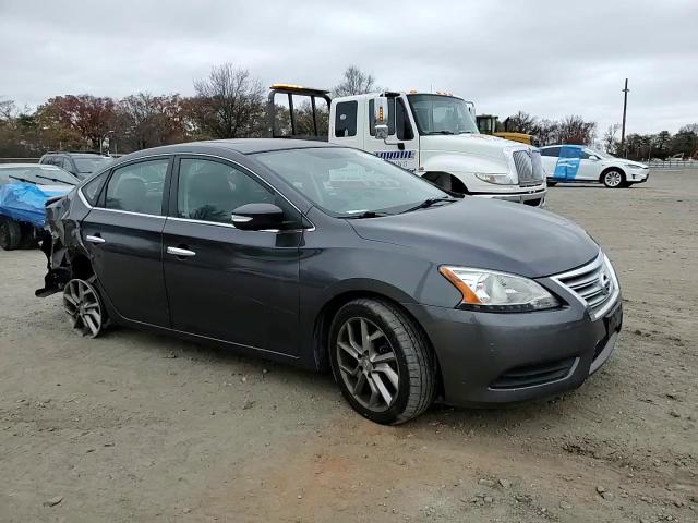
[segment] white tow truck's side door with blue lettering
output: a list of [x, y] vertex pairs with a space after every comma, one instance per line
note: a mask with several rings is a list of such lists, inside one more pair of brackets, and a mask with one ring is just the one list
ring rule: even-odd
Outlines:
[[388, 98], [388, 137], [386, 141], [375, 137], [373, 105], [373, 99], [369, 99], [364, 149], [378, 158], [414, 172], [419, 165], [419, 134], [414, 131], [414, 123], [405, 99], [402, 97]]

